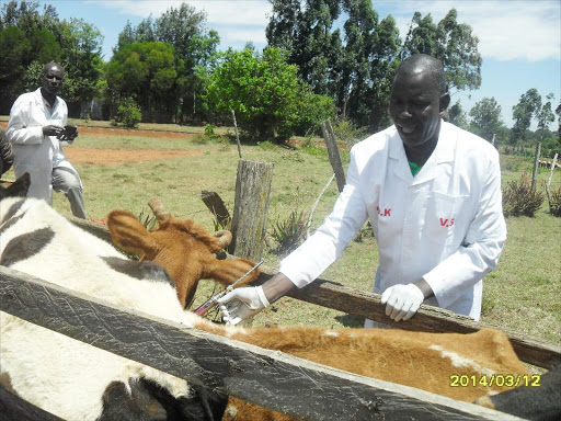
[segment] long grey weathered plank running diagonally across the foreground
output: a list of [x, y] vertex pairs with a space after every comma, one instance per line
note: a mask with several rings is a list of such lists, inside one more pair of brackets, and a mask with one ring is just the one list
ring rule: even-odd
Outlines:
[[2, 311], [306, 420], [517, 420], [119, 309], [3, 266], [0, 297]]

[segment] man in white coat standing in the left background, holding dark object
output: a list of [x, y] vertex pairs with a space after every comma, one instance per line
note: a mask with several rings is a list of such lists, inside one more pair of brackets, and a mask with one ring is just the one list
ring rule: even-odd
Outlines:
[[62, 192], [72, 214], [87, 219], [82, 182], [61, 147], [61, 143], [72, 143], [78, 136], [75, 127], [66, 125], [68, 109], [57, 96], [64, 77], [60, 65], [45, 65], [43, 87], [15, 100], [5, 135], [12, 144], [15, 177], [25, 172], [31, 175], [27, 196], [53, 205], [53, 190]]

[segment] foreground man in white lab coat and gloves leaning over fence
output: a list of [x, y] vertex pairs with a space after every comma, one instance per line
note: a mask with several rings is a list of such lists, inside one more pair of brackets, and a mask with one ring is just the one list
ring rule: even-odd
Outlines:
[[405, 59], [390, 95], [393, 126], [353, 147], [345, 187], [323, 225], [262, 287], [222, 297], [224, 319], [238, 323], [312, 282], [369, 218], [380, 261], [374, 292], [388, 317], [408, 320], [426, 303], [479, 320], [483, 276], [506, 239], [499, 153], [442, 120], [449, 102], [437, 59]]

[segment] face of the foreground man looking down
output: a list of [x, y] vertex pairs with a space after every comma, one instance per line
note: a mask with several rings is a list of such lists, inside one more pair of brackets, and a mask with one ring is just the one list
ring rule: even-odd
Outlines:
[[438, 136], [446, 98], [447, 94], [440, 95], [436, 83], [426, 71], [399, 73], [396, 77], [389, 111], [405, 146], [427, 145], [428, 140]]

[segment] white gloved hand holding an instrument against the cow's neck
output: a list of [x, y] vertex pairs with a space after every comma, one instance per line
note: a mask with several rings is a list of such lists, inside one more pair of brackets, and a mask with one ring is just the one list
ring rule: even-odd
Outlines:
[[270, 305], [262, 286], [233, 289], [217, 301], [226, 325], [238, 325]]

